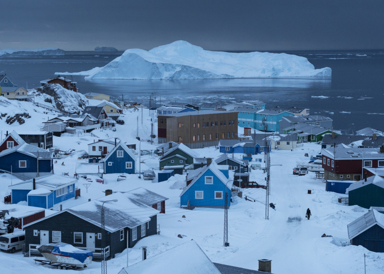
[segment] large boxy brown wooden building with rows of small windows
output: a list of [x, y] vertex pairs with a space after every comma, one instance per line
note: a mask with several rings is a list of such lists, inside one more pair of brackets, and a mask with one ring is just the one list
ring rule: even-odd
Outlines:
[[193, 111], [157, 116], [159, 144], [183, 143], [191, 149], [214, 146], [221, 139], [237, 139], [237, 112]]

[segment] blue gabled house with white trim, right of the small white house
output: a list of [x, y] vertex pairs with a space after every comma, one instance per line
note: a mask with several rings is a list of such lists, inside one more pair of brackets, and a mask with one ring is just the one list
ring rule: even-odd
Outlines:
[[104, 173], [135, 173], [136, 156], [122, 142], [116, 146], [104, 158]]

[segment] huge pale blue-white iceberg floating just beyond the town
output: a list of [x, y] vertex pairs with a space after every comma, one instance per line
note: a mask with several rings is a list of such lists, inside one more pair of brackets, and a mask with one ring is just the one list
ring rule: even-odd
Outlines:
[[218, 79], [329, 77], [331, 68], [314, 69], [307, 58], [286, 53], [207, 51], [186, 41], [152, 50], [131, 49], [102, 68], [79, 73], [86, 79]]

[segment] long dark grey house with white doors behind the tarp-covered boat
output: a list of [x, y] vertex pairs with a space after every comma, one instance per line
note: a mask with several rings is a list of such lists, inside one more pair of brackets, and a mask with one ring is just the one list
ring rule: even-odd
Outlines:
[[[101, 228], [102, 206], [105, 230]], [[117, 192], [29, 223], [25, 227], [25, 245], [29, 249], [30, 244], [34, 248], [63, 242], [91, 250], [98, 257], [105, 236], [110, 259], [127, 248], [127, 238], [131, 248], [140, 239], [157, 234], [157, 213], [158, 210], [132, 198], [130, 193]]]

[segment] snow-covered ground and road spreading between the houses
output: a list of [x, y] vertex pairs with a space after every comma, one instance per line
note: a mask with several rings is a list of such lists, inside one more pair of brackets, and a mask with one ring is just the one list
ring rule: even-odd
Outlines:
[[[23, 103], [23, 102], [20, 102]], [[28, 109], [28, 106], [24, 106]], [[0, 112], [3, 110], [0, 109]], [[75, 152], [66, 158], [58, 160], [55, 164], [55, 173], [68, 172], [71, 176], [78, 162], [81, 150], [87, 150], [87, 144], [93, 139], [119, 137], [127, 144], [136, 144], [137, 117], [139, 117], [139, 136], [141, 149], [154, 149], [157, 144], [151, 145], [147, 140], [151, 133], [149, 111], [143, 110], [143, 124], [141, 124], [140, 111], [125, 111], [124, 125], [116, 125], [116, 132], [112, 130], [95, 130], [98, 138], [89, 134], [64, 137], [54, 137], [53, 144], [61, 150], [75, 149]], [[25, 124], [13, 126], [0, 121], [2, 130], [19, 129], [32, 130], [40, 126], [43, 118], [52, 114], [35, 112]], [[36, 116], [36, 117], [35, 117]], [[6, 125], [6, 127], [4, 127]], [[155, 123], [155, 129], [157, 124]], [[241, 132], [239, 130], [239, 132]], [[4, 133], [4, 132], [3, 132]], [[185, 176], [176, 175], [166, 182], [158, 183], [139, 179], [138, 175], [127, 175], [127, 180], [117, 182], [119, 174], [105, 175], [105, 183], [91, 182], [88, 192], [85, 179], [81, 178], [77, 186], [81, 189], [81, 197], [63, 203], [63, 208], [79, 205], [104, 196], [106, 189], [113, 191], [127, 191], [137, 187], [166, 196], [166, 213], [159, 214], [157, 222], [160, 224], [160, 235], [149, 236], [142, 239], [134, 248], [129, 249], [129, 264], [141, 261], [141, 246], [147, 246], [147, 256], [154, 256], [178, 244], [194, 239], [207, 256], [213, 261], [233, 266], [258, 269], [258, 259], [272, 260], [272, 273], [363, 273], [364, 253], [366, 254], [367, 273], [382, 273], [384, 260], [381, 253], [368, 251], [362, 246], [349, 245], [347, 224], [367, 212], [359, 206], [345, 206], [338, 203], [341, 195], [325, 191], [325, 184], [315, 178], [314, 173], [305, 176], [292, 174], [296, 162], [308, 161], [304, 154], [318, 152], [320, 145], [304, 144], [290, 150], [273, 150], [271, 152], [271, 195], [269, 202], [276, 204], [276, 211], [269, 208], [269, 220], [265, 219], [265, 190], [245, 189], [243, 197], [247, 196], [253, 201], [233, 197], [228, 210], [228, 240], [229, 247], [223, 246], [224, 212], [215, 208], [195, 208], [188, 211], [180, 209], [181, 187]], [[218, 156], [214, 147], [196, 150], [200, 157]], [[262, 158], [263, 155], [254, 155], [253, 158]], [[137, 159], [138, 160], [138, 159]], [[79, 160], [86, 162], [86, 160]], [[65, 165], [61, 165], [64, 162]], [[141, 156], [141, 170], [150, 167], [158, 168], [158, 157]], [[282, 166], [273, 166], [282, 164]], [[156, 172], [157, 173], [157, 172]], [[0, 195], [9, 193], [10, 175], [0, 174]], [[265, 183], [265, 174], [262, 170], [252, 170], [250, 180]], [[12, 183], [20, 182], [12, 178]], [[308, 194], [311, 190], [312, 194]], [[2, 203], [0, 203], [0, 207]], [[17, 205], [15, 205], [17, 206]], [[310, 208], [310, 220], [305, 218], [306, 209]], [[54, 210], [56, 210], [55, 208]], [[185, 215], [185, 218], [182, 216]], [[333, 237], [321, 238], [325, 233]], [[183, 238], [178, 238], [181, 234]], [[109, 273], [118, 273], [126, 266], [126, 251], [107, 262]], [[193, 254], [186, 255], [188, 257]], [[0, 273], [25, 271], [41, 274], [58, 271], [53, 267], [35, 264], [33, 257], [23, 257], [21, 251], [15, 254], [0, 253]], [[73, 270], [69, 270], [73, 271]], [[101, 262], [93, 262], [88, 268], [81, 270], [84, 274], [96, 274], [101, 271]]]

